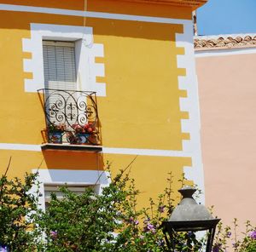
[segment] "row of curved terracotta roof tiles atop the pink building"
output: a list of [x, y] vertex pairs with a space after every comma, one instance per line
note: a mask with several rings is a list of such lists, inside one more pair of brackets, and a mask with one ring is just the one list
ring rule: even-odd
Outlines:
[[194, 47], [195, 49], [256, 47], [256, 36], [195, 37]]

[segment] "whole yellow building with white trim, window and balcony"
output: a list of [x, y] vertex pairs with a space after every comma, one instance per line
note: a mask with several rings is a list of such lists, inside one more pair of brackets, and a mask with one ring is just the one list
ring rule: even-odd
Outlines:
[[43, 208], [136, 156], [143, 204], [169, 172], [203, 189], [191, 13], [206, 2], [1, 0], [1, 173], [10, 156], [11, 176], [38, 169]]

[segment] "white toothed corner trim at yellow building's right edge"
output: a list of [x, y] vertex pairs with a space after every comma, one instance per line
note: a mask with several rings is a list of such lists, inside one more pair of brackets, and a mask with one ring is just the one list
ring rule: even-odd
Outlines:
[[[182, 132], [189, 133], [190, 140], [183, 140], [183, 153], [190, 153], [191, 167], [184, 167], [184, 175], [204, 192], [204, 170], [201, 160], [200, 110], [198, 83], [195, 72], [195, 54], [193, 44], [193, 23], [185, 25], [183, 34], [176, 35], [176, 46], [185, 49], [185, 54], [177, 55], [177, 67], [186, 69], [185, 76], [178, 77], [179, 89], [186, 90], [187, 97], [180, 98], [180, 110], [188, 112], [189, 118], [182, 119]], [[205, 202], [204, 194], [200, 195], [201, 203]]]

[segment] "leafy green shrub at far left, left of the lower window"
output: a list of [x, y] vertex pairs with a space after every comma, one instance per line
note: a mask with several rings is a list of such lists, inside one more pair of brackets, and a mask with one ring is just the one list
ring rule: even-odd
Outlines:
[[0, 244], [8, 245], [10, 251], [26, 251], [34, 247], [38, 197], [28, 193], [36, 184], [37, 175], [25, 175], [8, 180], [0, 179]]

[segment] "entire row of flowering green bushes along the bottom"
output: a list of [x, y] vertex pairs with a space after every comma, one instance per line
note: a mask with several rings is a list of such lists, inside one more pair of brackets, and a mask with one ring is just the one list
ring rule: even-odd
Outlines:
[[[135, 181], [120, 170], [101, 195], [86, 188], [81, 195], [61, 187], [63, 198], [53, 193], [45, 212], [38, 209], [37, 175], [25, 175], [24, 180], [0, 180], [0, 244], [9, 251], [167, 251], [160, 228], [174, 208], [172, 174], [167, 178], [166, 190], [149, 207], [137, 209]], [[183, 184], [183, 180], [181, 180]], [[181, 185], [183, 186], [183, 185]], [[247, 222], [242, 240], [235, 238], [233, 251], [256, 252], [256, 230]], [[220, 223], [212, 252], [231, 251], [227, 239], [230, 227]], [[177, 252], [203, 251], [205, 239], [197, 241], [194, 233], [176, 237]], [[229, 250], [227, 250], [229, 249]]]

